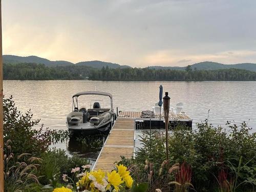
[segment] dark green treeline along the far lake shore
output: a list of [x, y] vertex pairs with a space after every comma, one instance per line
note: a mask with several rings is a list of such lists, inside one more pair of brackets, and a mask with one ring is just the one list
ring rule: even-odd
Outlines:
[[150, 68], [103, 67], [95, 69], [83, 65], [47, 67], [35, 63], [4, 64], [4, 79], [50, 80], [50, 79], [90, 79], [115, 81], [255, 81], [256, 72], [241, 69], [163, 70]]

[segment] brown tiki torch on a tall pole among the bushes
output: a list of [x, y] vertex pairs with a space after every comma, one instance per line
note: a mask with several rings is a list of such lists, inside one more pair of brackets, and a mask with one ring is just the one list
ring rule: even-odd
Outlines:
[[169, 170], [169, 158], [168, 158], [169, 109], [170, 109], [170, 97], [168, 96], [168, 92], [165, 92], [165, 96], [163, 97], [163, 112], [164, 112], [164, 120], [165, 120], [165, 145], [166, 145], [167, 170]]

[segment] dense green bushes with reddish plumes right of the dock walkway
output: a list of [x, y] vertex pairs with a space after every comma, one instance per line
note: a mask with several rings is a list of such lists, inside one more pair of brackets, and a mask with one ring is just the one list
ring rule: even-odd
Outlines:
[[[143, 147], [137, 151], [136, 158], [123, 158], [122, 163], [136, 167], [136, 180], [148, 181], [150, 191], [157, 188], [180, 191], [182, 183], [197, 191], [253, 191], [256, 187], [256, 133], [250, 131], [245, 122], [240, 126], [227, 122], [227, 129], [213, 127], [208, 121], [197, 124], [195, 131], [176, 127], [168, 141], [169, 164], [179, 164], [178, 172], [173, 174], [168, 173], [166, 163], [162, 163], [166, 159], [165, 136], [145, 132], [141, 138]], [[184, 163], [186, 168], [182, 170]], [[177, 177], [184, 170], [188, 176], [191, 174], [186, 182]]]

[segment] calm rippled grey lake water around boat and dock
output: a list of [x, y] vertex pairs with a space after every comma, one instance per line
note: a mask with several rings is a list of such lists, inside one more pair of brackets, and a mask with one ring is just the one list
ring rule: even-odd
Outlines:
[[[184, 111], [193, 118], [194, 127], [196, 122], [207, 118], [210, 110], [209, 121], [214, 125], [225, 126], [227, 120], [238, 124], [246, 121], [253, 128], [252, 131], [256, 131], [255, 81], [5, 80], [4, 94], [5, 97], [13, 95], [19, 110], [25, 112], [31, 109], [34, 118], [41, 119], [46, 127], [67, 129], [66, 115], [72, 110], [72, 95], [77, 92], [94, 91], [96, 88], [96, 91], [112, 93], [115, 109], [142, 111], [151, 110], [151, 106], [158, 101], [160, 84], [163, 92], [169, 92], [171, 106], [184, 103]], [[90, 104], [84, 100], [86, 102]], [[76, 151], [69, 143], [60, 144], [59, 147], [67, 148], [70, 153]]]

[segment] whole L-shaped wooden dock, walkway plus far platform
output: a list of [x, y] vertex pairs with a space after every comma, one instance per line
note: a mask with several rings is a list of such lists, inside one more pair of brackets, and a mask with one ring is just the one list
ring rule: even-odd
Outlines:
[[[141, 112], [120, 112], [108, 138], [105, 140], [99, 156], [93, 166], [93, 170], [101, 169], [104, 172], [111, 172], [115, 166], [115, 162], [121, 160], [121, 156], [132, 158], [135, 154], [135, 131], [140, 129], [140, 122], [144, 125], [162, 126], [164, 118], [159, 114], [152, 118], [141, 118]], [[183, 123], [188, 127], [192, 127], [192, 119], [185, 113], [175, 114], [169, 113], [169, 123]], [[143, 129], [143, 128], [142, 128]]]

